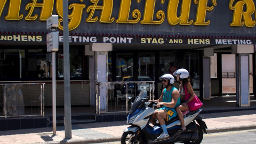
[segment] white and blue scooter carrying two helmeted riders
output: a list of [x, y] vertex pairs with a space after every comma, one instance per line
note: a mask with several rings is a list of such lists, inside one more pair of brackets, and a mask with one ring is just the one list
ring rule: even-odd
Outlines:
[[[207, 126], [203, 117], [199, 116], [201, 109], [190, 111], [184, 117], [186, 130], [179, 132], [180, 121], [178, 117], [165, 122], [170, 138], [157, 140], [157, 137], [163, 132], [159, 124], [150, 124], [150, 119], [154, 113], [154, 102], [148, 102], [147, 91], [143, 90], [131, 102], [131, 110], [127, 116], [127, 127], [122, 134], [121, 143], [140, 143], [140, 144], [158, 144], [158, 143], [201, 143], [203, 132], [207, 133]], [[197, 122], [197, 123], [196, 123]]]

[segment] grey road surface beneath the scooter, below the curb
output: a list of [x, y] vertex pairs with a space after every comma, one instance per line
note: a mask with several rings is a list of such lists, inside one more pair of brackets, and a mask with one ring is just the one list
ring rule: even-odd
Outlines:
[[[201, 144], [254, 144], [256, 143], [256, 129], [245, 131], [232, 131], [223, 133], [210, 133], [204, 134], [204, 139]], [[97, 144], [120, 144], [120, 141], [104, 142]]]

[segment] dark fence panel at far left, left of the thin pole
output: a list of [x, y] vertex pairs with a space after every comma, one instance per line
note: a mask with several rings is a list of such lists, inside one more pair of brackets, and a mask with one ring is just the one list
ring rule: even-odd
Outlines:
[[44, 85], [0, 84], [0, 117], [44, 116]]

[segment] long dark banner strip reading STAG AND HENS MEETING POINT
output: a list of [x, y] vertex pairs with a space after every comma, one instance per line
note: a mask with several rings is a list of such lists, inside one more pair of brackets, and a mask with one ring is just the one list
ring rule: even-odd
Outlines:
[[[58, 37], [58, 35], [56, 36]], [[16, 35], [0, 34], [0, 42], [47, 42], [52, 45], [51, 33], [46, 35]], [[63, 36], [59, 36], [63, 42]], [[256, 38], [213, 38], [213, 37], [172, 37], [172, 36], [98, 36], [98, 35], [72, 35], [72, 43], [125, 43], [125, 44], [256, 44]], [[53, 51], [58, 51], [58, 46], [53, 46]], [[49, 47], [50, 49], [50, 47]], [[48, 51], [48, 50], [47, 50]]]

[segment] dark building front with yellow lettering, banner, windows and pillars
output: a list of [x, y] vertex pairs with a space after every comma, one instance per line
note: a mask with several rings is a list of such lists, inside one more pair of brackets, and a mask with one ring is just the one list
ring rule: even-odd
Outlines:
[[[237, 106], [250, 106], [256, 74], [255, 2], [69, 1], [71, 105], [95, 106], [96, 84], [123, 77], [150, 78], [157, 98], [158, 78], [186, 68], [202, 100], [231, 93], [237, 95]], [[0, 2], [0, 81], [46, 83], [49, 107], [52, 55], [46, 51], [51, 32], [46, 20], [52, 14], [59, 15], [55, 72], [57, 106], [63, 106], [62, 1]], [[122, 93], [122, 86], [116, 90]], [[100, 95], [104, 101], [106, 92]]]

